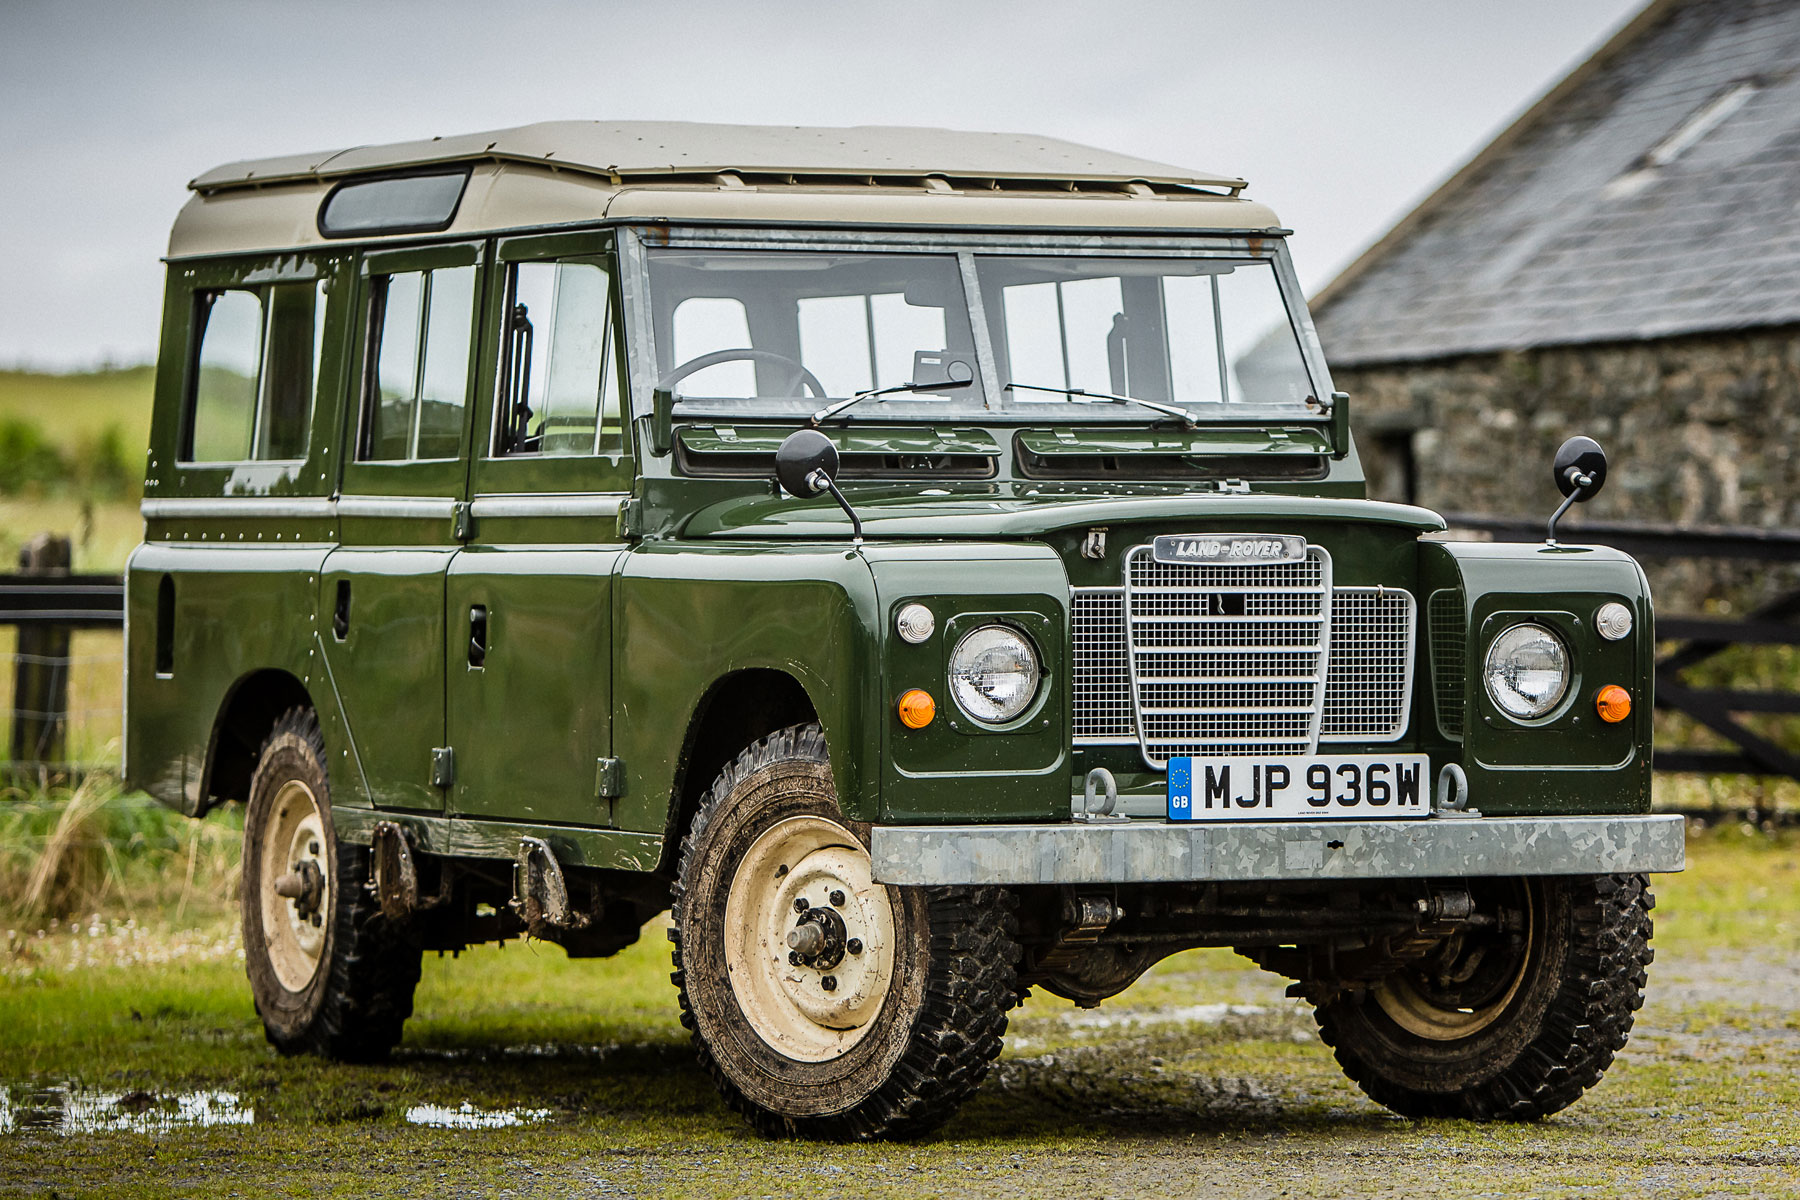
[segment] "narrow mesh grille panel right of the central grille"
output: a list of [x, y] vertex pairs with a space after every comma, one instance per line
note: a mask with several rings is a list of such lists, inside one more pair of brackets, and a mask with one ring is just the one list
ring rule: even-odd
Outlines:
[[1413, 698], [1413, 596], [1391, 588], [1332, 592], [1332, 667], [1319, 738], [1391, 741]]

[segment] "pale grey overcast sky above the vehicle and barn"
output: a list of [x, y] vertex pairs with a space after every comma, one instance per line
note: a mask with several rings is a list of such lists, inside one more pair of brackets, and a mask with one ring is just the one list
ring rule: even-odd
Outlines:
[[155, 354], [185, 182], [549, 119], [922, 124], [1242, 175], [1323, 286], [1638, 0], [0, 0], [0, 363]]

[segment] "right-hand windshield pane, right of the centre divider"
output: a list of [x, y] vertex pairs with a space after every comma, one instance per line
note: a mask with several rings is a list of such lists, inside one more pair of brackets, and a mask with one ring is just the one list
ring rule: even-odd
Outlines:
[[1265, 259], [977, 255], [976, 275], [1001, 383], [1021, 385], [1008, 405], [1078, 399], [1067, 389], [1217, 417], [1314, 396]]

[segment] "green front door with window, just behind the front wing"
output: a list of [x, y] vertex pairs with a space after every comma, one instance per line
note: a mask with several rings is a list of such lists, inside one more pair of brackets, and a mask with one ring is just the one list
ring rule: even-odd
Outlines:
[[500, 241], [472, 538], [450, 565], [452, 810], [612, 820], [612, 592], [632, 488], [612, 236]]

